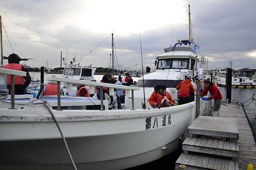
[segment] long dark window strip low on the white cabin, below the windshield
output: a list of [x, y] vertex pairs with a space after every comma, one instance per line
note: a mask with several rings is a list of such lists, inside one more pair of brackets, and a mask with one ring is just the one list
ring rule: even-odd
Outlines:
[[[166, 85], [167, 88], [175, 88], [182, 80], [144, 80], [145, 87], [154, 87], [155, 85]], [[139, 80], [136, 87], [143, 87], [143, 81]]]

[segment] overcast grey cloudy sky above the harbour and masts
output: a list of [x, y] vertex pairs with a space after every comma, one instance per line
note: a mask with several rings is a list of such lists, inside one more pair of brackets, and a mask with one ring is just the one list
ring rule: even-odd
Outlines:
[[[191, 5], [198, 56], [208, 68], [256, 68], [256, 0], [0, 0], [0, 14], [13, 51], [30, 66], [60, 66], [74, 55], [83, 65], [108, 67], [111, 33], [119, 65], [154, 62], [163, 48], [188, 37]], [[13, 42], [14, 41], [14, 42]], [[68, 53], [67, 53], [68, 47]], [[18, 49], [19, 48], [19, 49]], [[20, 52], [21, 51], [21, 52]], [[3, 29], [3, 55], [12, 53]], [[6, 63], [6, 61], [4, 62]]]

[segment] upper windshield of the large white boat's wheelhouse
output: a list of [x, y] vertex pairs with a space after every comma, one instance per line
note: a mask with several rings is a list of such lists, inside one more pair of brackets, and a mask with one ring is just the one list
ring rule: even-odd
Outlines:
[[189, 59], [159, 59], [157, 69], [167, 68], [189, 69]]

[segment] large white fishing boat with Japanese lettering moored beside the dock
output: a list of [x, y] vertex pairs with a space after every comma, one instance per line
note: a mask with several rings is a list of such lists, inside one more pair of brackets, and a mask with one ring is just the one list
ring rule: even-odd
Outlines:
[[[180, 45], [193, 45], [194, 49]], [[145, 164], [172, 153], [186, 138], [187, 127], [195, 119], [195, 102], [157, 109], [146, 104], [142, 108], [143, 89], [147, 97], [154, 84], [166, 84], [173, 99], [177, 99], [175, 85], [186, 76], [197, 74], [195, 45], [192, 40], [181, 40], [172, 48], [166, 48], [166, 52], [157, 57], [156, 72], [144, 75], [144, 88], [143, 79], [137, 87], [129, 87], [48, 77], [48, 81], [57, 82], [57, 96], [28, 100], [28, 96], [14, 95], [12, 90], [10, 100], [4, 96], [0, 99], [0, 168], [113, 170]], [[5, 83], [5, 74], [25, 75], [0, 68], [0, 84]], [[67, 84], [68, 92], [76, 83], [87, 85], [90, 94], [94, 93], [94, 86], [99, 86], [102, 97], [92, 100], [61, 96], [61, 82]], [[13, 89], [13, 81], [11, 86]], [[108, 110], [103, 87], [109, 88], [110, 96], [115, 95], [114, 89], [126, 91], [124, 109]], [[78, 103], [85, 107], [87, 102], [98, 109], [66, 107]], [[209, 101], [201, 100], [201, 115], [207, 112], [207, 103]]]

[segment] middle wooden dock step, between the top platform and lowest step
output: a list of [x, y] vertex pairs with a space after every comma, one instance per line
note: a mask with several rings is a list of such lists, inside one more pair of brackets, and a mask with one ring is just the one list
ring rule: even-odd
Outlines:
[[221, 140], [214, 138], [187, 137], [182, 144], [182, 150], [197, 153], [207, 153], [217, 156], [239, 157], [239, 143], [236, 141]]

